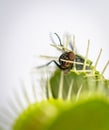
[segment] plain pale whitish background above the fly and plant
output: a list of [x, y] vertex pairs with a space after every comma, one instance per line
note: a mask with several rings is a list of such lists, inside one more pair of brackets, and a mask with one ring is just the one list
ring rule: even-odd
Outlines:
[[1, 103], [33, 66], [45, 63], [33, 55], [55, 54], [49, 46], [50, 32], [61, 37], [65, 32], [75, 34], [83, 55], [90, 39], [89, 57], [94, 61], [103, 48], [98, 65], [102, 70], [109, 59], [108, 0], [0, 0]]

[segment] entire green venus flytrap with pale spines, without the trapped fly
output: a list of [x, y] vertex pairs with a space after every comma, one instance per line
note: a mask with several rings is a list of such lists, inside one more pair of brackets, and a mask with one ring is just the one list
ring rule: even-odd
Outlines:
[[[19, 116], [14, 120], [11, 129], [109, 130], [109, 80], [103, 76], [109, 61], [99, 72], [96, 68], [102, 49], [95, 64], [92, 65], [92, 61], [88, 59], [89, 40], [86, 55], [83, 57], [76, 54], [75, 36], [71, 42], [72, 38], [67, 35], [63, 41], [64, 45], [62, 45], [60, 37], [57, 34], [56, 36], [60, 45], [52, 44], [53, 47], [62, 52], [69, 51], [69, 45], [73, 49], [72, 52], [76, 55], [73, 61], [60, 59], [61, 62], [72, 64], [73, 67], [68, 71], [56, 69], [50, 76], [48, 76], [49, 70], [47, 70], [47, 78], [42, 75], [44, 76], [43, 80], [47, 79], [45, 79], [46, 81], [41, 80], [41, 82], [46, 83], [47, 92], [42, 89], [42, 95], [46, 95], [46, 98], [42, 98], [41, 101], [37, 100], [36, 86], [33, 80], [31, 80], [31, 87], [34, 103], [31, 103], [27, 88], [22, 83], [21, 92], [27, 106], [24, 107], [22, 99], [15, 92], [16, 104], [11, 102], [10, 106], [11, 110]], [[55, 43], [53, 39], [52, 42]], [[44, 57], [50, 58], [49, 56]], [[56, 57], [54, 58], [56, 59]], [[7, 128], [3, 126], [1, 130], [7, 130]]]

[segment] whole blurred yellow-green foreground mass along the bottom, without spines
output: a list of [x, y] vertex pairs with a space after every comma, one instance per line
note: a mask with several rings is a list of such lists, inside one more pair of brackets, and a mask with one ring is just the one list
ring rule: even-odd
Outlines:
[[77, 102], [50, 99], [32, 104], [14, 130], [109, 130], [109, 101], [93, 96]]

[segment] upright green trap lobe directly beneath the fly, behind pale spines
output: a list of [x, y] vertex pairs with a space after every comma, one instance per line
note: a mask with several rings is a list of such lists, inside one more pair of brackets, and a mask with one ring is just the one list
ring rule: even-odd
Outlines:
[[[61, 77], [61, 71], [57, 69], [50, 78], [50, 86], [54, 98], [58, 98], [59, 85], [61, 79], [60, 77]], [[63, 99], [67, 98], [69, 87], [72, 81], [73, 81], [71, 90], [72, 96], [77, 95], [81, 86], [82, 86], [81, 92], [87, 92], [87, 93], [99, 92], [104, 95], [109, 95], [109, 80], [104, 79], [103, 76], [100, 75], [99, 73], [97, 76], [95, 76], [88, 74], [86, 72], [71, 71], [68, 74], [63, 75], [63, 91], [62, 91]]]

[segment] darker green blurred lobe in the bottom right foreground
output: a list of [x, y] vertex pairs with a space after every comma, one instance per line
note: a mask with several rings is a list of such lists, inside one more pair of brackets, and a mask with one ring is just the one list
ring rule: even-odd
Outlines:
[[109, 103], [94, 98], [71, 105], [47, 130], [109, 130]]

